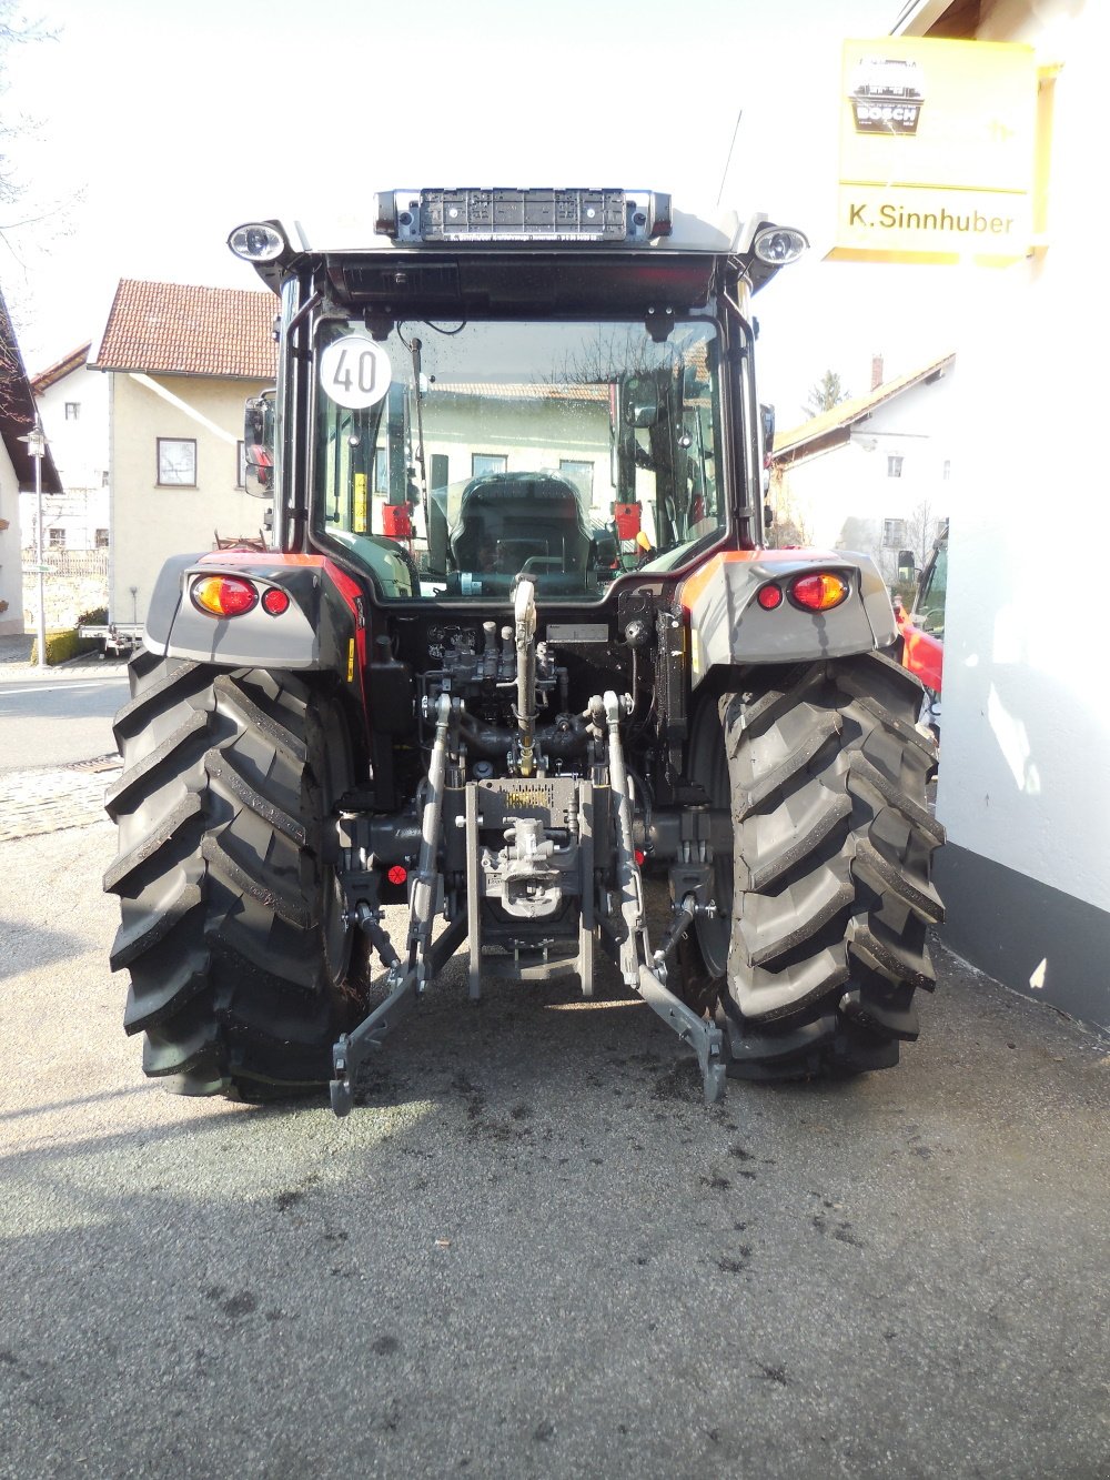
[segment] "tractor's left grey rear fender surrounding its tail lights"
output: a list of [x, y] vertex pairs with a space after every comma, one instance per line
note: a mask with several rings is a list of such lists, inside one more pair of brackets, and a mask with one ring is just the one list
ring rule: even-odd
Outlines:
[[[189, 599], [197, 576], [250, 580], [259, 601], [240, 616], [212, 617]], [[271, 617], [262, 595], [274, 586], [290, 601], [286, 611]], [[357, 582], [323, 555], [176, 555], [166, 561], [154, 586], [144, 641], [152, 653], [197, 663], [336, 673], [366, 709], [366, 598]]]

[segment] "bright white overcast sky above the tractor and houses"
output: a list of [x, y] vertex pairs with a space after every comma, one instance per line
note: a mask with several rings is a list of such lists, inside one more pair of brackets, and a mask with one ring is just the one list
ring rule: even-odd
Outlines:
[[926, 300], [921, 269], [821, 260], [841, 46], [901, 7], [41, 0], [24, 13], [53, 34], [9, 49], [0, 96], [24, 186], [0, 207], [0, 286], [24, 358], [34, 373], [96, 346], [121, 277], [255, 287], [226, 249], [243, 221], [395, 186], [625, 185], [810, 235], [756, 299], [761, 395], [796, 425], [827, 369], [861, 394], [873, 352], [894, 374], [955, 337], [935, 271]]

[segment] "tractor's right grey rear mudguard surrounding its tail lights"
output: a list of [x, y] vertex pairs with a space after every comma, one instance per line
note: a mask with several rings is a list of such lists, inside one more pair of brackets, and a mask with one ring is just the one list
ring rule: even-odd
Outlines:
[[[795, 576], [832, 571], [848, 583], [848, 598], [813, 613], [786, 596], [764, 610], [756, 592], [776, 582], [783, 592]], [[740, 663], [793, 663], [870, 653], [894, 642], [894, 608], [882, 576], [851, 551], [725, 551], [681, 588], [690, 614], [690, 673], [697, 687], [710, 669]]]

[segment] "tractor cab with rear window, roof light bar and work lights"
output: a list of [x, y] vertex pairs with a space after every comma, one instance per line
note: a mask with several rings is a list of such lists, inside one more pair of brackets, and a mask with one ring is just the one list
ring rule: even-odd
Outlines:
[[801, 232], [582, 189], [391, 191], [374, 223], [231, 238], [283, 300], [283, 548], [354, 564], [382, 604], [521, 574], [595, 604], [759, 543], [746, 302]]

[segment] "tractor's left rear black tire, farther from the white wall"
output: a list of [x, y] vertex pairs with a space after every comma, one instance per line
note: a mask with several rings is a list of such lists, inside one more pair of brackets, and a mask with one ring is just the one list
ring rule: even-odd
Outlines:
[[352, 783], [334, 700], [303, 679], [139, 653], [108, 793], [112, 969], [127, 1033], [179, 1094], [274, 1098], [330, 1079], [357, 1014], [324, 818]]

